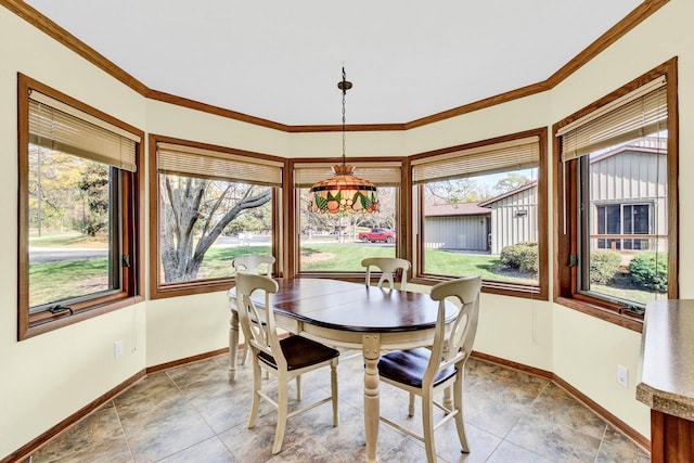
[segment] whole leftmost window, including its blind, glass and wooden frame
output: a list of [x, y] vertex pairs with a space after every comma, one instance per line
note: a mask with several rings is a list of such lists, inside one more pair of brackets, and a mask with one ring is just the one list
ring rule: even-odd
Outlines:
[[18, 335], [139, 296], [142, 132], [20, 76]]

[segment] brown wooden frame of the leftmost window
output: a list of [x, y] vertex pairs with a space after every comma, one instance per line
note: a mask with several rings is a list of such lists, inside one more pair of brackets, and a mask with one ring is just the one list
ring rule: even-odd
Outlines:
[[143, 143], [136, 144], [136, 163], [140, 167], [130, 172], [119, 169], [121, 215], [119, 236], [121, 253], [131, 256], [131, 266], [121, 266], [118, 278], [121, 287], [116, 293], [89, 297], [79, 303], [70, 304], [72, 312], [53, 314], [49, 311], [29, 313], [29, 282], [28, 282], [28, 205], [29, 191], [26, 178], [28, 176], [28, 145], [29, 145], [29, 92], [36, 90], [66, 105], [75, 107], [92, 117], [112, 126], [124, 129], [144, 139], [144, 132], [136, 127], [123, 123], [94, 107], [91, 107], [72, 97], [66, 95], [47, 85], [43, 85], [22, 73], [17, 74], [17, 153], [18, 153], [18, 201], [17, 201], [17, 339], [26, 339], [42, 333], [77, 323], [102, 313], [107, 313], [123, 307], [144, 300], [142, 296], [143, 265], [144, 265], [144, 223], [143, 182], [141, 168], [143, 166]]

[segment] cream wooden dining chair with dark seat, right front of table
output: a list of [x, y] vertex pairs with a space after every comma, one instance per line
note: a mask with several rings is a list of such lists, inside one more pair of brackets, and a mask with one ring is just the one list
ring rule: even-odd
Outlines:
[[[463, 375], [477, 332], [479, 314], [480, 276], [467, 276], [439, 283], [432, 288], [432, 299], [438, 300], [438, 317], [434, 345], [386, 353], [378, 362], [381, 380], [410, 393], [409, 416], [414, 415], [414, 396], [422, 400], [423, 435], [381, 416], [381, 421], [424, 442], [426, 458], [436, 461], [434, 432], [455, 419], [462, 451], [470, 452], [463, 422]], [[446, 299], [457, 299], [460, 310], [447, 334]], [[452, 386], [452, 409], [435, 401], [434, 394]], [[444, 417], [434, 422], [434, 407], [441, 409]]]

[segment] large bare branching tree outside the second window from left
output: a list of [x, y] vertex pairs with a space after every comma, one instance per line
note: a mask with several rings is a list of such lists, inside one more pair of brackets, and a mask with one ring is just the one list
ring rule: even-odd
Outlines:
[[160, 176], [162, 266], [167, 283], [197, 278], [207, 249], [244, 211], [272, 198], [272, 189], [171, 175]]

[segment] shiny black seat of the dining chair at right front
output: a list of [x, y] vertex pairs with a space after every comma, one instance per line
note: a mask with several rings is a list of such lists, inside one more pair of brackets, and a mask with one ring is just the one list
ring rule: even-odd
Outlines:
[[[412, 387], [422, 387], [422, 377], [429, 363], [432, 351], [424, 347], [410, 350], [396, 350], [386, 353], [378, 362], [378, 374], [396, 383]], [[434, 381], [434, 386], [442, 383], [457, 372], [454, 366], [440, 371]]]

